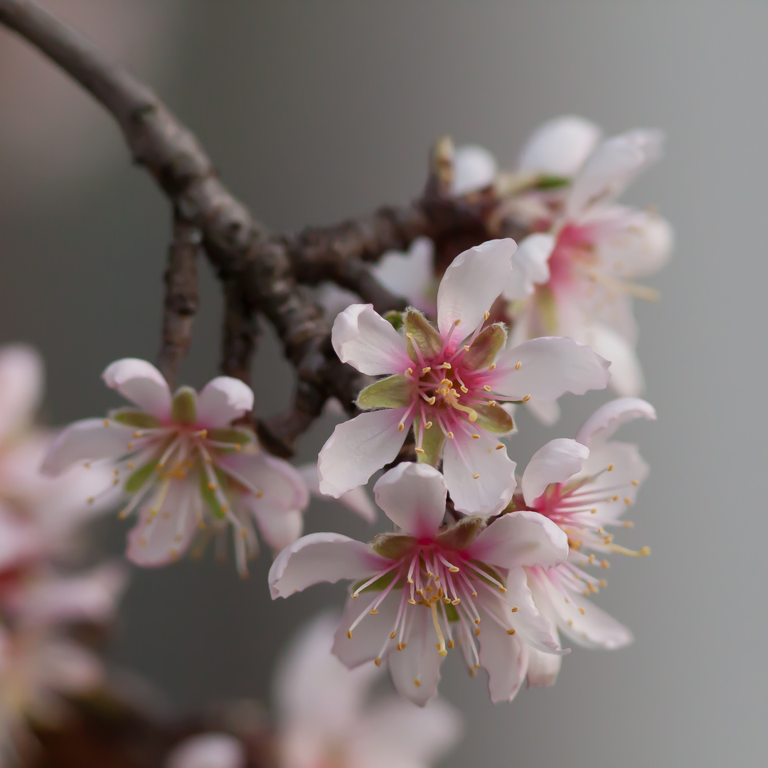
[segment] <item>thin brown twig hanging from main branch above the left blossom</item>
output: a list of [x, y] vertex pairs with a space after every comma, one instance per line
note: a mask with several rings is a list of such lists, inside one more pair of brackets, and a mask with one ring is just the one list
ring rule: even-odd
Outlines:
[[165, 300], [162, 343], [157, 366], [171, 387], [176, 383], [181, 361], [192, 341], [192, 321], [200, 296], [197, 291], [197, 255], [200, 230], [184, 220], [174, 219], [174, 233], [168, 248], [165, 270]]

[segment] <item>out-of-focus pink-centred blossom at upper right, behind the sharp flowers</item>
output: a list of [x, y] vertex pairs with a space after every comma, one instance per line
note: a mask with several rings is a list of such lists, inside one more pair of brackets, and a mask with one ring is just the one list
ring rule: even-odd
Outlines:
[[[590, 144], [581, 143], [582, 149]], [[540, 194], [541, 209], [528, 211], [531, 226], [539, 231], [521, 241], [504, 293], [514, 319], [512, 343], [558, 335], [589, 344], [611, 361], [611, 386], [627, 396], [643, 386], [631, 298], [656, 297], [634, 280], [664, 266], [672, 233], [656, 214], [614, 201], [657, 159], [661, 144], [657, 131], [628, 131], [598, 145], [581, 168], [567, 163], [577, 171], [572, 183], [564, 177], [555, 197]], [[561, 150], [544, 142], [528, 153], [527, 162], [547, 167], [548, 151], [558, 157]], [[571, 160], [580, 154], [574, 152]], [[537, 407], [545, 421], [557, 418], [554, 403]]]

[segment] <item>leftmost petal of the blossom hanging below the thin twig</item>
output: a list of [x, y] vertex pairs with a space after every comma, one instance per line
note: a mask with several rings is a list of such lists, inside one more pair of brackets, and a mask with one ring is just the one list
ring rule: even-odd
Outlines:
[[98, 458], [119, 458], [127, 452], [134, 430], [106, 419], [83, 419], [59, 433], [45, 455], [41, 471], [58, 475], [78, 462]]

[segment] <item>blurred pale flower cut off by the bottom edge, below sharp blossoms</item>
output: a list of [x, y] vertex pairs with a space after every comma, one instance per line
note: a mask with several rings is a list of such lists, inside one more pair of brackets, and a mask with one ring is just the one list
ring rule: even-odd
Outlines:
[[[379, 670], [348, 670], [331, 654], [337, 616], [304, 627], [278, 669], [282, 768], [427, 768], [458, 741], [462, 721], [436, 699], [423, 709], [386, 695], [371, 701]], [[396, 734], [396, 738], [393, 738]]]

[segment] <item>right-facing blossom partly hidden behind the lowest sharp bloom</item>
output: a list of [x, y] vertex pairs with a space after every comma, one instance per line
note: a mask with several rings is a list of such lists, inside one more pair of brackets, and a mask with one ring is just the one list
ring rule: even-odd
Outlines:
[[[656, 419], [653, 406], [637, 398], [620, 398], [601, 406], [584, 423], [575, 440], [555, 439], [528, 462], [516, 508], [544, 515], [568, 535], [568, 561], [546, 570], [528, 567], [528, 584], [536, 607], [569, 640], [588, 648], [620, 648], [632, 640], [626, 627], [585, 598], [605, 581], [586, 570], [608, 567], [606, 555], [648, 554], [614, 542], [610, 528], [628, 526], [621, 514], [634, 504], [648, 467], [637, 448], [611, 441], [631, 419]], [[517, 503], [519, 502], [519, 504]], [[551, 685], [560, 660], [531, 649], [531, 684]]]

